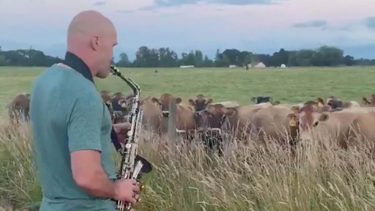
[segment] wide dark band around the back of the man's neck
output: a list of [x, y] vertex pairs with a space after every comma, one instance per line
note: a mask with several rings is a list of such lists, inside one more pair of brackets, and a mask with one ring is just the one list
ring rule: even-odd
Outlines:
[[62, 63], [70, 66], [75, 71], [81, 73], [83, 75], [83, 77], [85, 77], [87, 80], [90, 80], [92, 83], [94, 83], [93, 75], [92, 75], [89, 67], [77, 55], [67, 51], [66, 54], [65, 54], [65, 59], [62, 61]]

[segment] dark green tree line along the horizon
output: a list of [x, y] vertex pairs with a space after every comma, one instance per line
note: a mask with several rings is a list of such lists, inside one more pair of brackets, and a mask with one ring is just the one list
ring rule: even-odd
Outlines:
[[[51, 66], [61, 62], [59, 57], [45, 55], [43, 51], [34, 49], [19, 49], [2, 51], [0, 46], [0, 66]], [[257, 54], [250, 51], [226, 49], [216, 51], [213, 60], [202, 51], [195, 50], [189, 53], [178, 54], [170, 48], [139, 47], [135, 59], [131, 62], [126, 53], [119, 55], [118, 62], [112, 63], [119, 67], [179, 67], [193, 65], [196, 67], [228, 67], [229, 65], [247, 66], [263, 62], [267, 67], [287, 66], [353, 66], [375, 65], [375, 59], [354, 59], [353, 56], [344, 56], [344, 51], [337, 47], [322, 46], [318, 49], [302, 49], [287, 51], [281, 48], [273, 54]]]

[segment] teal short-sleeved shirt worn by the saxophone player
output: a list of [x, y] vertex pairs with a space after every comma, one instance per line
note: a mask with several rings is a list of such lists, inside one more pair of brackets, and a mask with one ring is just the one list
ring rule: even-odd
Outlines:
[[[111, 118], [88, 68], [74, 54], [75, 70], [52, 65], [32, 84], [30, 123], [43, 199], [40, 211], [114, 211], [109, 199], [91, 196], [72, 176], [70, 153], [82, 149], [101, 152], [101, 165], [115, 179]], [[86, 71], [86, 72], [85, 72]]]

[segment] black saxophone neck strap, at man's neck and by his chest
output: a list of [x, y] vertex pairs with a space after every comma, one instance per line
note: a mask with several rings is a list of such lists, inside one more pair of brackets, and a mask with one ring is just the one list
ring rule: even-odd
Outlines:
[[[67, 51], [65, 54], [65, 59], [61, 63], [70, 66], [75, 71], [81, 73], [87, 80], [95, 84], [89, 66], [87, 66], [86, 63], [74, 53]], [[116, 150], [120, 151], [122, 147], [120, 142], [118, 142], [117, 134], [115, 133], [113, 127], [111, 131], [111, 140]]]

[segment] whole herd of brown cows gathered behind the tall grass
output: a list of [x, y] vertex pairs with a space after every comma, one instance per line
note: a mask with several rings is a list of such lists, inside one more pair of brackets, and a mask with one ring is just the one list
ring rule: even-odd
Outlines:
[[[113, 123], [126, 122], [133, 95], [121, 92], [111, 95], [108, 91], [102, 91], [100, 95]], [[176, 104], [176, 131], [186, 139], [199, 133], [222, 140], [223, 134], [229, 134], [244, 142], [254, 140], [264, 144], [266, 140], [276, 140], [280, 144], [293, 145], [296, 141], [311, 139], [315, 134], [323, 134], [336, 137], [342, 148], [357, 145], [364, 138], [375, 143], [375, 95], [370, 100], [363, 97], [361, 104], [334, 96], [326, 100], [319, 97], [312, 101], [282, 104], [274, 102], [271, 97], [259, 96], [252, 98], [254, 104], [239, 105], [236, 101], [213, 102], [201, 94], [185, 103], [181, 98], [164, 93], [160, 97], [141, 99], [142, 124], [147, 130], [159, 135], [167, 132], [163, 121], [171, 118], [169, 101], [172, 99]], [[29, 101], [28, 94], [13, 98], [8, 106], [12, 121], [28, 120]]]

